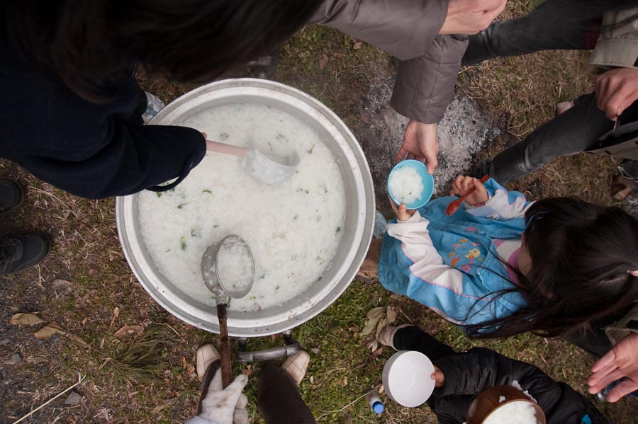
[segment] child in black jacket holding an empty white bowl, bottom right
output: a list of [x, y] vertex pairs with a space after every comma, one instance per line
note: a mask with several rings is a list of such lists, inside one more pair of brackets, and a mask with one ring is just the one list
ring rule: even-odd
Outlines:
[[488, 387], [515, 385], [514, 382], [538, 402], [547, 424], [610, 423], [584, 396], [527, 362], [486, 348], [457, 353], [416, 326], [388, 327], [379, 339], [396, 350], [417, 350], [432, 360], [432, 379], [437, 384], [427, 404], [441, 424], [465, 423], [476, 395]]

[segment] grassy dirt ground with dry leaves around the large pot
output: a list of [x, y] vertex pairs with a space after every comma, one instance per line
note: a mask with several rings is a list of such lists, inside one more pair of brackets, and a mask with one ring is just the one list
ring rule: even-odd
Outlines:
[[[531, 7], [520, 3], [508, 13]], [[585, 58], [577, 52], [549, 52], [463, 69], [457, 101], [471, 102], [467, 107], [476, 110], [486, 130], [481, 148], [459, 159], [457, 166], [470, 169], [551, 118], [557, 101], [591, 89], [591, 80], [581, 74]], [[393, 135], [386, 134], [389, 149], [401, 144], [396, 121], [385, 112], [379, 122], [374, 119], [379, 113], [365, 113], [371, 110], [375, 90], [379, 84], [387, 86], [393, 71], [391, 58], [374, 47], [308, 25], [281, 48], [274, 79], [335, 110], [364, 147], [374, 143], [371, 126], [388, 133], [395, 125]], [[139, 79], [167, 102], [194, 87], [143, 73]], [[461, 130], [466, 125], [455, 121], [449, 128], [455, 123]], [[381, 164], [383, 160], [381, 156], [373, 169], [378, 187], [384, 181], [379, 169], [390, 166]], [[615, 166], [611, 159], [586, 154], [561, 158], [510, 188], [530, 199], [580, 195], [610, 205], [608, 183]], [[42, 265], [0, 279], [0, 424], [13, 423], [35, 408], [40, 409], [23, 423], [181, 423], [194, 416], [195, 352], [203, 342], [215, 343], [216, 335], [175, 319], [137, 282], [118, 241], [115, 200], [69, 195], [8, 161], [0, 161], [0, 169], [1, 176], [16, 179], [26, 190], [26, 201], [0, 222], [0, 231], [45, 231], [54, 243]], [[363, 396], [379, 389], [381, 369], [391, 355], [389, 350], [372, 355], [366, 348], [369, 337], [361, 335], [366, 313], [375, 306], [392, 306], [400, 321], [422, 326], [457, 350], [488, 346], [532, 362], [586, 393], [594, 358], [564, 341], [522, 335], [477, 343], [420, 304], [379, 285], [355, 281], [335, 304], [294, 331], [311, 355], [301, 394], [318, 423], [436, 422], [427, 407], [402, 408], [383, 394], [387, 410], [381, 416], [366, 405]], [[11, 325], [11, 316], [18, 312], [32, 312], [43, 322]], [[56, 328], [52, 336], [35, 338], [34, 333], [51, 328], [50, 323]], [[250, 345], [280, 343], [280, 336], [273, 336], [251, 340]], [[252, 422], [260, 423], [254, 403], [259, 365], [234, 366], [235, 372], [254, 374], [246, 393]], [[635, 399], [597, 405], [615, 423], [638, 423]]]

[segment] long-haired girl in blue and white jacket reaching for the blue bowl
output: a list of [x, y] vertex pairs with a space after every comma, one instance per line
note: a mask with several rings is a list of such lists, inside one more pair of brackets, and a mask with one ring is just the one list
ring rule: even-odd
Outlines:
[[418, 210], [393, 205], [398, 219], [379, 256], [384, 287], [475, 337], [563, 336], [638, 300], [638, 221], [629, 214], [573, 197], [527, 202], [464, 176], [450, 195], [471, 186], [452, 216], [454, 197]]

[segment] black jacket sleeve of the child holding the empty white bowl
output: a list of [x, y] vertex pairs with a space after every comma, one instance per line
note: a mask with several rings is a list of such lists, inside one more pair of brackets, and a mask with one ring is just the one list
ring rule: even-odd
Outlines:
[[593, 423], [607, 424], [587, 399], [564, 383], [556, 383], [541, 369], [527, 362], [510, 359], [493, 350], [474, 348], [435, 361], [445, 376], [445, 384], [435, 395], [476, 396], [491, 386], [511, 385], [514, 381], [537, 400], [548, 424], [580, 424], [585, 414]]

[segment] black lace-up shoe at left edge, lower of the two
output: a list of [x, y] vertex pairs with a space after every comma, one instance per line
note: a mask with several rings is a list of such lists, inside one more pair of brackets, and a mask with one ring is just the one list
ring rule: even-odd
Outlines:
[[19, 273], [39, 265], [50, 251], [51, 241], [46, 234], [0, 236], [0, 275]]

